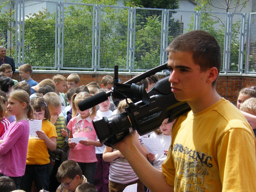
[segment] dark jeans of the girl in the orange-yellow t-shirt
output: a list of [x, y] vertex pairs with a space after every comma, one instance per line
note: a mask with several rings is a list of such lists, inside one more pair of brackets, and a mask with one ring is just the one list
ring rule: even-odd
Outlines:
[[36, 191], [43, 188], [49, 191], [50, 165], [26, 165], [25, 174], [20, 181], [20, 189], [30, 191], [33, 180], [36, 184]]

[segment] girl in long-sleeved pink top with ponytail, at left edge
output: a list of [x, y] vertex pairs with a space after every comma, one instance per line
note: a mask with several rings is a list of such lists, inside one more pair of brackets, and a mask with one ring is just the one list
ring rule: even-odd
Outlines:
[[34, 110], [29, 102], [29, 95], [23, 90], [15, 90], [8, 95], [7, 109], [16, 117], [16, 121], [10, 124], [0, 138], [0, 176], [11, 177], [17, 189], [20, 188], [26, 167], [28, 119], [34, 119]]

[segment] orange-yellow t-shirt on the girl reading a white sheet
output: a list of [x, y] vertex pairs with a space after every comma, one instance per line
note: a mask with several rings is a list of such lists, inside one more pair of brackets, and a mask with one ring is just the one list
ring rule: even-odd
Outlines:
[[[47, 135], [47, 137], [56, 137], [57, 133], [55, 126], [49, 121], [42, 122], [42, 131]], [[28, 153], [26, 164], [48, 164], [50, 163], [49, 154], [47, 146], [44, 143], [44, 140], [39, 139], [38, 137], [30, 136], [28, 140]]]

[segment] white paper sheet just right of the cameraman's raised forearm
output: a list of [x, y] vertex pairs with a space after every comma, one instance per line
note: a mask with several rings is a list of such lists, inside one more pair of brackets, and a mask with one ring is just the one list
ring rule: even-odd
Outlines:
[[164, 154], [164, 148], [158, 138], [146, 138], [142, 137], [143, 143], [152, 154]]

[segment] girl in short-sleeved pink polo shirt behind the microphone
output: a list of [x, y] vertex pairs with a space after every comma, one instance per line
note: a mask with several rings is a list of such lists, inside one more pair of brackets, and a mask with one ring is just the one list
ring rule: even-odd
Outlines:
[[[92, 119], [96, 116], [96, 106], [91, 109], [81, 111], [78, 103], [90, 97], [87, 92], [74, 94], [72, 97], [72, 119], [68, 122], [69, 131], [68, 146], [70, 148], [68, 159], [76, 161], [82, 169], [83, 175], [91, 184], [94, 183], [96, 171], [95, 146], [101, 147], [102, 144], [96, 141], [96, 132], [92, 125]], [[76, 114], [78, 116], [76, 116]], [[87, 140], [80, 140], [79, 143], [71, 142], [71, 138], [87, 137]]]

